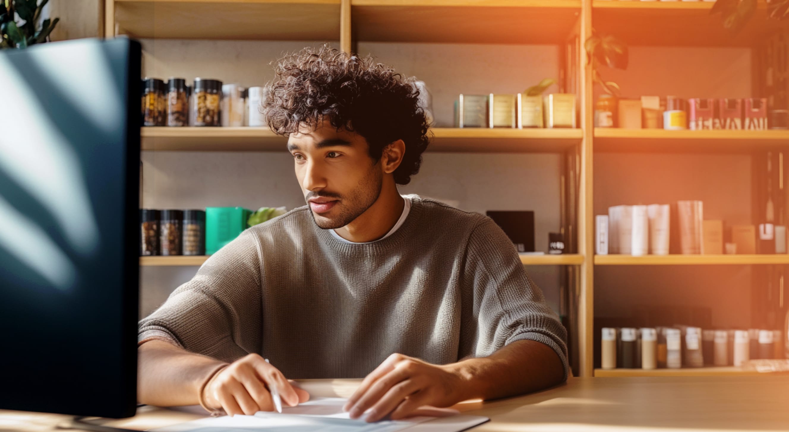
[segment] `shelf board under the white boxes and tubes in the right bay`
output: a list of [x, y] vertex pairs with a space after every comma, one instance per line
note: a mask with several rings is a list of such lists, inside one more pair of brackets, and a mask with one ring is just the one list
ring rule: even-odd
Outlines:
[[789, 255], [594, 255], [596, 266], [789, 264]]

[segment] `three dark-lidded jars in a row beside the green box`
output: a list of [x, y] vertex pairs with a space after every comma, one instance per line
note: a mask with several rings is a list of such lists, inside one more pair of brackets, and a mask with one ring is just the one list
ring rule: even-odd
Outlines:
[[140, 256], [151, 255], [205, 255], [205, 211], [140, 209]]

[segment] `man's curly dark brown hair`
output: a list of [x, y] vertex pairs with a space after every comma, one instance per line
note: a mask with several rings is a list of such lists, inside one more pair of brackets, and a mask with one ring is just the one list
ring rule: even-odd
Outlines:
[[408, 184], [419, 172], [430, 139], [413, 78], [404, 79], [371, 55], [360, 58], [328, 44], [286, 55], [275, 73], [262, 110], [274, 132], [287, 136], [300, 125], [314, 128], [325, 116], [337, 130], [363, 136], [373, 162], [387, 144], [403, 140], [406, 153], [394, 170], [395, 183]]

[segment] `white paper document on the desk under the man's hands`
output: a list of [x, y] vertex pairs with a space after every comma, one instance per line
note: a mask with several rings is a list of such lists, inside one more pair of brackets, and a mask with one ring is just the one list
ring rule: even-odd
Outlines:
[[283, 407], [278, 412], [257, 412], [255, 415], [225, 415], [178, 423], [151, 429], [151, 432], [459, 432], [488, 421], [477, 415], [413, 417], [401, 420], [381, 420], [367, 423], [364, 419], [350, 419], [342, 411], [346, 399], [316, 397], [296, 407]]

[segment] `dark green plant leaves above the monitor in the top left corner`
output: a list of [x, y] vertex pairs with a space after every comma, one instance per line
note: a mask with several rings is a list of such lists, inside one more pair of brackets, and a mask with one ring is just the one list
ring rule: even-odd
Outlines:
[[0, 50], [27, 48], [47, 42], [59, 18], [40, 23], [41, 11], [49, 0], [0, 0]]

